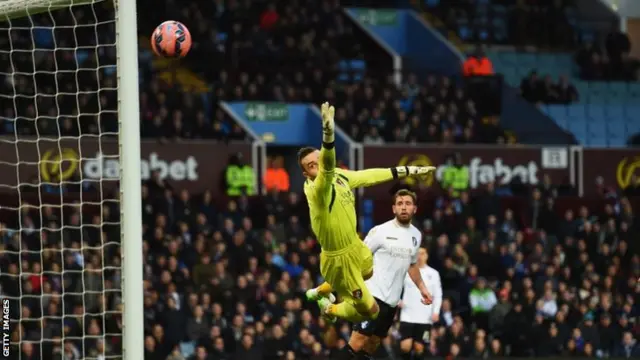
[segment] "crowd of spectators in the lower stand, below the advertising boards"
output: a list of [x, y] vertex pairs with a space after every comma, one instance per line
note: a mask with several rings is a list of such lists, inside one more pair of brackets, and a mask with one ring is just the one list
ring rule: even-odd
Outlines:
[[[638, 356], [629, 200], [559, 214], [556, 194], [544, 182], [518, 214], [489, 184], [424, 210], [416, 225], [445, 300], [423, 355]], [[143, 186], [146, 359], [319, 360], [344, 346], [349, 326], [304, 301], [321, 280], [304, 202], [293, 192], [259, 202]], [[0, 285], [20, 305], [11, 338], [23, 359], [119, 354], [119, 212], [107, 204], [92, 217], [25, 211], [21, 231], [1, 227]], [[380, 356], [392, 358], [398, 331]]]

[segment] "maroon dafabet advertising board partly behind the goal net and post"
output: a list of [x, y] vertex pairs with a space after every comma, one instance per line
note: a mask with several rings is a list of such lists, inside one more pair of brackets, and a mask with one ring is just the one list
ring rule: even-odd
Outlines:
[[[80, 138], [69, 140], [0, 142], [0, 184], [100, 181], [103, 188], [117, 185], [120, 176], [117, 141]], [[143, 141], [140, 172], [143, 180], [154, 170], [172, 186], [192, 192], [220, 190], [227, 159], [242, 154], [251, 162], [249, 143]], [[127, 154], [122, 154], [127, 156]]]

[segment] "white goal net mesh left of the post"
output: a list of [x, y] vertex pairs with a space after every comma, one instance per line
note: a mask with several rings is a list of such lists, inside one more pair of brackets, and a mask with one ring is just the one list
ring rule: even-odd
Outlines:
[[3, 334], [12, 359], [119, 358], [114, 4], [34, 3], [0, 22]]

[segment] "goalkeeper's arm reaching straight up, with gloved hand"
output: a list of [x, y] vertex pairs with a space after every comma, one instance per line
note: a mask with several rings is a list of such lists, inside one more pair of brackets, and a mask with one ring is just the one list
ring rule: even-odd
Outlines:
[[331, 185], [336, 175], [335, 127], [333, 116], [335, 109], [329, 103], [322, 104], [322, 147], [318, 164], [318, 176], [313, 181], [314, 197], [322, 205], [330, 205]]

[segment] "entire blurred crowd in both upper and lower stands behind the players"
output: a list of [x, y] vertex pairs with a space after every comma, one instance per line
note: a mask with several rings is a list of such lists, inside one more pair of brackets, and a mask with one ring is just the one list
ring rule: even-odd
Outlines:
[[[443, 41], [473, 44], [460, 76], [417, 68], [397, 81], [389, 56], [343, 11], [387, 2], [138, 0], [142, 136], [247, 140], [221, 101], [330, 101], [339, 127], [365, 145], [544, 143], [560, 133], [563, 144], [622, 147], [640, 131], [633, 41], [611, 19], [589, 28], [574, 1], [409, 3]], [[112, 10], [100, 2], [33, 18], [56, 26], [49, 32], [29, 20], [2, 26], [3, 143], [117, 135]], [[179, 65], [150, 57], [144, 38], [168, 18], [194, 39]], [[522, 112], [494, 103], [486, 89], [496, 79]], [[281, 149], [270, 155], [265, 174], [236, 157], [204, 192], [158, 172], [145, 181], [145, 359], [323, 360], [345, 345], [349, 324], [324, 322], [304, 301], [321, 282], [320, 249], [299, 170]], [[418, 189], [415, 225], [445, 300], [414, 358], [640, 358], [637, 178], [585, 200], [546, 176], [504, 191], [470, 186], [459, 162], [450, 168], [455, 182]], [[36, 189], [0, 212], [0, 294], [19, 319], [10, 338], [20, 359], [122, 354], [119, 194], [80, 189], [88, 197], [67, 193], [64, 207]], [[397, 359], [401, 337], [395, 324], [377, 356]]]

